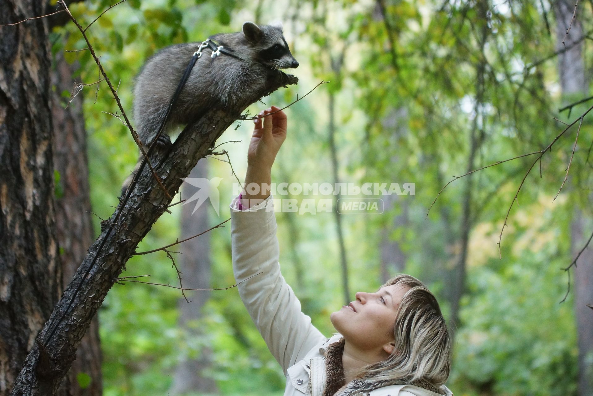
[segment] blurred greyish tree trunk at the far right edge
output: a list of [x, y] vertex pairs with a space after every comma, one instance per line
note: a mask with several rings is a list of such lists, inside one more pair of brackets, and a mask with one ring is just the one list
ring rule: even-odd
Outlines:
[[[574, 2], [568, 0], [556, 0], [553, 3], [554, 15], [556, 16], [556, 39], [557, 49], [564, 49], [570, 46], [575, 39], [583, 34], [580, 15], [577, 14], [572, 21], [575, 11]], [[572, 25], [570, 22], [572, 21]], [[570, 32], [566, 35], [566, 29], [570, 25]], [[566, 39], [565, 39], [566, 37]], [[565, 41], [563, 44], [562, 41]], [[576, 44], [568, 51], [558, 56], [558, 73], [560, 87], [562, 88], [562, 101], [565, 104], [580, 100], [588, 92], [588, 80], [585, 75], [585, 61], [583, 56], [584, 43]], [[576, 133], [573, 130], [573, 133]], [[573, 171], [573, 168], [571, 168]], [[573, 171], [574, 172], [574, 171]], [[572, 194], [577, 194], [576, 190]], [[589, 202], [591, 197], [589, 197]], [[576, 197], [573, 198], [576, 202]], [[584, 212], [577, 205], [573, 210], [570, 233], [572, 234], [571, 251], [573, 257], [585, 245], [591, 235], [591, 213]], [[588, 225], [587, 227], [585, 225]], [[578, 346], [578, 394], [579, 396], [593, 396], [593, 311], [586, 306], [593, 304], [593, 247], [589, 247], [579, 257], [577, 266], [574, 269], [575, 279], [575, 316]]]

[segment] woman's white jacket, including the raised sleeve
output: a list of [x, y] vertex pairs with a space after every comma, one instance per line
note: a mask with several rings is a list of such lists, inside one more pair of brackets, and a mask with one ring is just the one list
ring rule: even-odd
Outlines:
[[[301, 312], [280, 273], [276, 216], [270, 195], [259, 205], [238, 210], [231, 203], [232, 269], [239, 295], [272, 355], [286, 375], [284, 396], [321, 396], [326, 384], [324, 353], [342, 336], [324, 337]], [[259, 273], [259, 274], [258, 274]], [[449, 395], [451, 391], [444, 387]], [[391, 385], [361, 396], [439, 396], [413, 385]]]

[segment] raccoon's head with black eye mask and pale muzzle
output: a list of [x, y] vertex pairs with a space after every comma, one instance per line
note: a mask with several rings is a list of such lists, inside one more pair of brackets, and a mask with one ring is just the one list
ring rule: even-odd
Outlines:
[[299, 63], [288, 48], [282, 27], [246, 22], [243, 24], [243, 34], [253, 46], [256, 62], [272, 69], [298, 68]]

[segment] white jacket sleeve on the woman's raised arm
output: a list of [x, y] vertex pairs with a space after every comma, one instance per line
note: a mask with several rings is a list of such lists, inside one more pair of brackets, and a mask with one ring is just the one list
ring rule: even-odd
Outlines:
[[231, 203], [232, 270], [239, 295], [272, 355], [286, 370], [326, 337], [301, 312], [280, 273], [272, 195], [249, 209]]

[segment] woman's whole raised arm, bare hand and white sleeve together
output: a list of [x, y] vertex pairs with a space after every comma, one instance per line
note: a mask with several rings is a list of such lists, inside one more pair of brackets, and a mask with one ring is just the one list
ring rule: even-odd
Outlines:
[[[272, 106], [265, 112], [276, 110], [278, 107]], [[238, 286], [239, 294], [285, 373], [325, 338], [301, 312], [300, 302], [280, 273], [270, 192], [260, 188], [250, 193], [248, 185], [270, 185], [272, 164], [286, 138], [286, 121], [282, 111], [266, 116], [263, 126], [256, 120], [248, 151], [247, 187], [242, 199], [237, 197], [231, 203], [233, 272], [237, 282], [245, 280]]]

